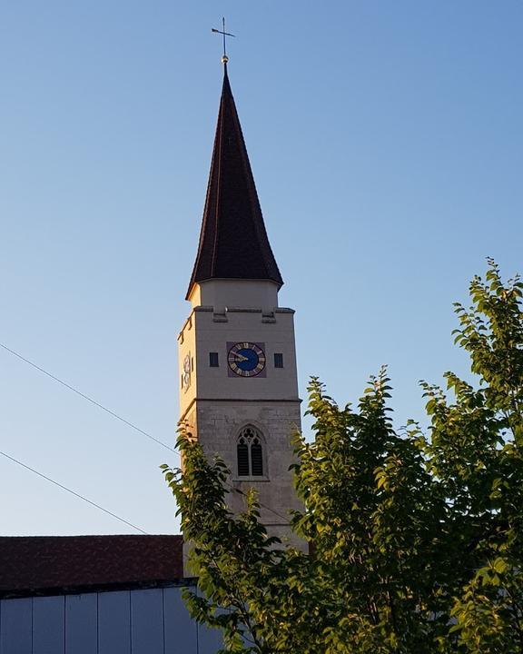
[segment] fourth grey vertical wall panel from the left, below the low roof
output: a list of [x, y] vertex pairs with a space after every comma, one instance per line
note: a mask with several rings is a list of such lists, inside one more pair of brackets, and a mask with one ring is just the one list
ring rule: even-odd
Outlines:
[[131, 654], [131, 592], [98, 595], [98, 654]]

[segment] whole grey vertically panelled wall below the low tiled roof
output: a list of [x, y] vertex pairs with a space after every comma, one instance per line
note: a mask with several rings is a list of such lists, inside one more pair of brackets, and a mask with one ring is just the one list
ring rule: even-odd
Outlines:
[[0, 654], [215, 654], [181, 588], [0, 601]]

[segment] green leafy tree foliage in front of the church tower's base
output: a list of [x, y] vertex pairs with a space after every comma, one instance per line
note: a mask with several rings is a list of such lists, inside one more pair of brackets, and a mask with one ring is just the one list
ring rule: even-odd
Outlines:
[[183, 471], [163, 471], [222, 652], [523, 652], [522, 289], [489, 261], [456, 305], [476, 386], [422, 383], [429, 434], [393, 429], [385, 370], [355, 408], [312, 379], [292, 519], [310, 554], [268, 537], [253, 492], [232, 515], [230, 472], [182, 428]]

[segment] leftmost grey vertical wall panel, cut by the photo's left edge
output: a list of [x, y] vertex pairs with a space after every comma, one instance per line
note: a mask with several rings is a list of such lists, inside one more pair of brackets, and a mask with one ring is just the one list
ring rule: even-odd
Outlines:
[[0, 652], [32, 654], [33, 599], [2, 599], [0, 611]]

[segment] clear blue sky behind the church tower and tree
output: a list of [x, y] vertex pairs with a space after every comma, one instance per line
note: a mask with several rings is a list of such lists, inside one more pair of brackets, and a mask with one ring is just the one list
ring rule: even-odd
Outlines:
[[[485, 257], [523, 272], [523, 5], [419, 2], [0, 6], [0, 342], [173, 443], [176, 335], [222, 84], [297, 310], [301, 396], [340, 403], [390, 365], [467, 363], [452, 302]], [[176, 463], [0, 350], [1, 449], [150, 532], [177, 530]], [[3, 534], [132, 532], [0, 457]]]

